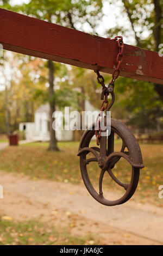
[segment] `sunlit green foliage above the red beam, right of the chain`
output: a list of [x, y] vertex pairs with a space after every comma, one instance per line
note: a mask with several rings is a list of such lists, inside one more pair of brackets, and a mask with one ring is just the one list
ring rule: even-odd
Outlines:
[[[110, 4], [115, 5], [116, 8], [115, 3], [112, 1], [109, 2]], [[157, 2], [163, 10], [163, 2], [161, 0]], [[129, 27], [123, 26], [123, 19], [125, 16], [128, 16], [128, 20], [130, 22]], [[117, 18], [119, 17], [117, 16]], [[149, 50], [157, 50], [154, 35], [156, 28], [162, 24], [162, 19], [163, 18], [161, 17], [159, 23], [156, 23], [156, 13], [153, 0], [122, 0], [122, 25], [117, 24], [116, 27], [112, 27], [108, 30], [108, 34], [109, 36], [112, 36], [120, 33], [125, 35], [128, 39], [130, 39], [131, 36], [134, 36], [135, 42], [138, 46]], [[163, 29], [161, 29], [161, 42], [162, 39]]]

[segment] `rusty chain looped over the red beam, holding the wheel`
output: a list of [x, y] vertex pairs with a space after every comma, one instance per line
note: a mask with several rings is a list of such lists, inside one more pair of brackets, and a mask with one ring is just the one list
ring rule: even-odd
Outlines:
[[[109, 83], [108, 87], [105, 86], [105, 81], [104, 81], [104, 77], [99, 74], [98, 70], [95, 70], [95, 73], [97, 74], [97, 81], [99, 84], [101, 84], [102, 86], [102, 94], [101, 94], [101, 100], [103, 100], [102, 105], [101, 105], [101, 111], [97, 116], [96, 119], [96, 142], [97, 145], [100, 144], [100, 138], [101, 138], [101, 127], [100, 127], [100, 123], [103, 120], [103, 112], [109, 111], [109, 109], [111, 108], [111, 106], [114, 103], [114, 82], [115, 80], [118, 78], [118, 76], [120, 75], [120, 65], [122, 63], [123, 60], [123, 48], [124, 48], [124, 44], [123, 44], [123, 37], [122, 36], [115, 36], [114, 39], [109, 38], [110, 40], [116, 40], [117, 44], [118, 44], [118, 54], [117, 54], [117, 58], [116, 58], [116, 68], [114, 69], [113, 73], [112, 73], [112, 80]], [[108, 102], [108, 95], [111, 93], [112, 99], [111, 102], [109, 104]], [[104, 99], [105, 96], [105, 99]]]

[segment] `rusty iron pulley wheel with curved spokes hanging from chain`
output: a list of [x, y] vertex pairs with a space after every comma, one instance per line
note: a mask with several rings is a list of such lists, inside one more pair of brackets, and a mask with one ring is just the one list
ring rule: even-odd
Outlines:
[[[87, 129], [80, 141], [79, 153], [80, 156], [80, 170], [84, 184], [93, 198], [99, 203], [113, 206], [123, 204], [127, 202], [131, 196], [133, 196], [137, 184], [139, 182], [140, 168], [143, 168], [142, 156], [139, 144], [136, 141], [135, 136], [126, 125], [121, 121], [111, 119], [111, 133], [109, 136], [101, 136], [100, 147], [90, 147], [90, 142], [93, 136], [95, 136], [96, 126], [93, 125], [93, 129]], [[114, 136], [117, 134], [122, 139], [122, 148], [120, 152], [114, 152]], [[87, 157], [89, 153], [93, 154], [93, 157]], [[131, 165], [131, 179], [129, 184], [123, 184], [116, 178], [112, 170], [116, 163], [123, 157]], [[87, 173], [87, 164], [90, 162], [97, 162], [101, 173], [99, 175], [99, 192], [92, 186], [89, 175]], [[102, 191], [102, 182], [104, 173], [107, 172], [110, 177], [120, 186], [124, 188], [124, 195], [117, 200], [105, 199]]]

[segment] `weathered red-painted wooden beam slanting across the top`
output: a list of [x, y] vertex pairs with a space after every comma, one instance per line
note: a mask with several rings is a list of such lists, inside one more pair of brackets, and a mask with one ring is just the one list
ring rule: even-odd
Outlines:
[[[5, 50], [112, 74], [117, 42], [0, 8], [0, 43]], [[163, 57], [124, 45], [121, 76], [163, 84]]]

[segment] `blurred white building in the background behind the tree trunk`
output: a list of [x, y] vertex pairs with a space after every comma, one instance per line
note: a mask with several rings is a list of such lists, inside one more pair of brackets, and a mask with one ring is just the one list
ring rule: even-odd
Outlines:
[[[95, 115], [99, 113], [99, 110], [95, 109], [87, 100], [85, 101], [85, 111], [95, 111]], [[68, 118], [68, 116], [65, 116], [65, 124], [68, 122]], [[84, 121], [86, 122], [86, 118]], [[91, 120], [87, 120], [88, 125], [90, 125], [91, 122]], [[49, 141], [49, 129], [49, 103], [37, 108], [34, 116], [34, 123], [20, 123], [19, 125], [19, 130], [25, 133], [26, 139], [34, 139], [37, 141]], [[56, 130], [55, 132], [58, 141], [73, 140], [72, 130]]]

